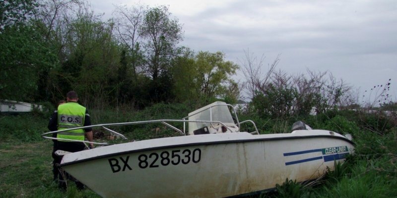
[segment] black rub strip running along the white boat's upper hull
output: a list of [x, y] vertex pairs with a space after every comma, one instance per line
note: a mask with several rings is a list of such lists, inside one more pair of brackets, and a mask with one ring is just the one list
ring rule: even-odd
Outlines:
[[[243, 132], [240, 132], [243, 133]], [[208, 134], [210, 135], [210, 134]], [[206, 136], [208, 136], [206, 135]], [[340, 136], [332, 136], [332, 135], [308, 135], [308, 136], [289, 136], [289, 137], [273, 137], [273, 138], [255, 138], [255, 139], [240, 139], [240, 140], [222, 140], [222, 141], [213, 141], [213, 142], [196, 142], [196, 143], [187, 143], [187, 144], [178, 144], [178, 145], [167, 145], [167, 146], [159, 146], [159, 147], [150, 147], [150, 148], [139, 148], [139, 149], [133, 149], [133, 150], [127, 150], [127, 151], [121, 151], [121, 152], [114, 152], [110, 154], [104, 154], [104, 155], [99, 155], [95, 157], [89, 157], [89, 158], [84, 158], [84, 159], [79, 159], [79, 160], [74, 160], [71, 162], [66, 162], [60, 164], [60, 167], [64, 166], [69, 166], [73, 164], [78, 164], [81, 162], [86, 162], [86, 161], [92, 161], [92, 160], [97, 160], [97, 159], [102, 159], [102, 158], [108, 158], [112, 156], [117, 156], [117, 155], [125, 155], [125, 154], [130, 154], [130, 153], [137, 153], [137, 152], [144, 152], [144, 151], [151, 151], [151, 150], [159, 150], [159, 149], [167, 149], [167, 148], [179, 148], [179, 147], [191, 147], [191, 146], [207, 146], [207, 145], [219, 145], [219, 144], [231, 144], [231, 143], [249, 143], [249, 142], [261, 142], [261, 141], [281, 141], [281, 140], [293, 140], [293, 139], [311, 139], [311, 138], [331, 138], [331, 139], [339, 139], [339, 140], [344, 140], [351, 145], [355, 145], [354, 142], [351, 140], [340, 137]], [[131, 142], [132, 143], [132, 142]], [[128, 143], [124, 143], [128, 144]], [[94, 148], [95, 149], [95, 148]], [[81, 152], [81, 151], [79, 151]], [[76, 152], [74, 152], [76, 153]]]

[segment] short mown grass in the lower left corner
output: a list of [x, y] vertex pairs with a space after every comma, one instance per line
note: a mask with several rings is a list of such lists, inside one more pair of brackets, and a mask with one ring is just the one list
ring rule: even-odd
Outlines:
[[[52, 142], [9, 141], [0, 146], [0, 192], [3, 198], [63, 198], [52, 181]], [[85, 192], [74, 192], [81, 197]], [[77, 195], [80, 194], [80, 195]], [[85, 196], [83, 196], [85, 197]]]

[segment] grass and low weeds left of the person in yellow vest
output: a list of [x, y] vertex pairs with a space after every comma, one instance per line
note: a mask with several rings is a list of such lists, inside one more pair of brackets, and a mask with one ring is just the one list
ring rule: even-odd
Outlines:
[[99, 198], [90, 190], [67, 192], [52, 180], [52, 141], [41, 138], [48, 119], [31, 114], [0, 116], [1, 198]]

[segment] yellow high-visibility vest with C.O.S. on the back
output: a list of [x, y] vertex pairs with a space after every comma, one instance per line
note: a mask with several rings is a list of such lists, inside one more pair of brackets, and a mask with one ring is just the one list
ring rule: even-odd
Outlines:
[[[77, 102], [67, 102], [58, 106], [58, 130], [84, 126], [85, 107]], [[57, 138], [84, 141], [84, 130], [60, 132]], [[62, 140], [58, 140], [62, 141]]]

